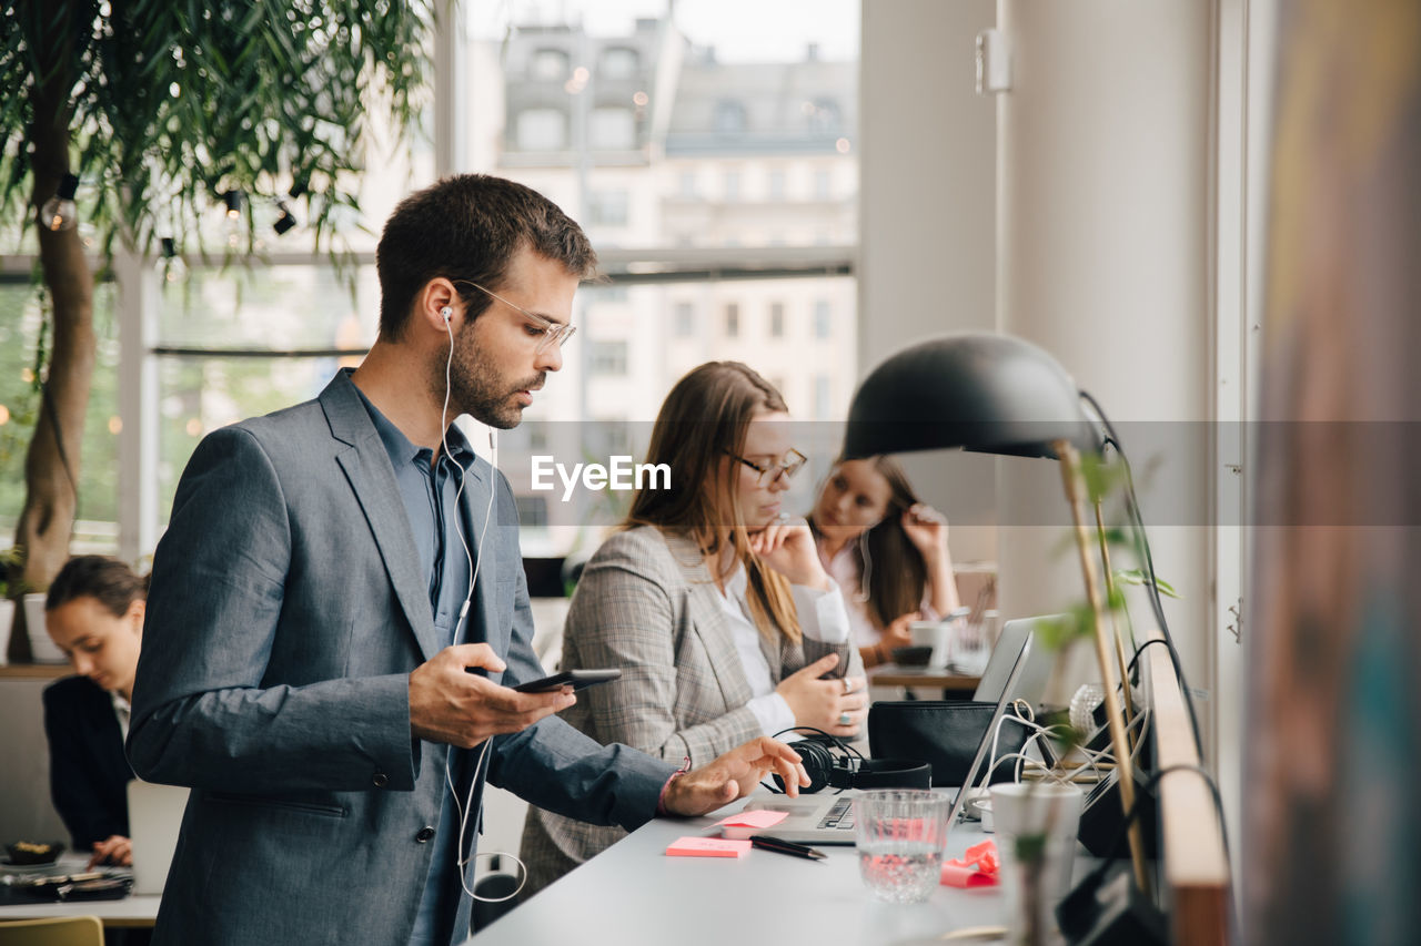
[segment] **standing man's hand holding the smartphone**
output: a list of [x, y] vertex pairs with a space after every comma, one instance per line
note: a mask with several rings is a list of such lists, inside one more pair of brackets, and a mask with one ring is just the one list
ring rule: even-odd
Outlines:
[[500, 672], [507, 665], [487, 643], [459, 643], [414, 669], [409, 729], [415, 736], [473, 749], [489, 736], [522, 732], [577, 702], [570, 686], [550, 693], [519, 693], [466, 672], [470, 666]]

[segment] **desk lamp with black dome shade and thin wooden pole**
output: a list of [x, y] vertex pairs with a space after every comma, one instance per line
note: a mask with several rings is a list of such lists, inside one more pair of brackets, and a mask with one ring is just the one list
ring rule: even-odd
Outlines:
[[[1086, 530], [1080, 453], [1100, 440], [1080, 411], [1070, 375], [1043, 349], [1007, 335], [961, 334], [899, 351], [878, 365], [848, 408], [844, 456], [961, 447], [979, 453], [1054, 457], [1061, 463], [1066, 499], [1076, 524], [1093, 636], [1106, 690], [1106, 717], [1128, 815], [1134, 804], [1134, 766], [1124, 716], [1115, 697], [1115, 668], [1106, 631], [1106, 602]], [[1148, 889], [1140, 824], [1130, 825], [1135, 882]]]

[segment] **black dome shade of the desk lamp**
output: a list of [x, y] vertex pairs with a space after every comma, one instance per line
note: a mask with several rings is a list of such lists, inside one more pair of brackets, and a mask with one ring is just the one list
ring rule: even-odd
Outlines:
[[1054, 457], [1097, 437], [1066, 369], [1009, 335], [959, 334], [904, 348], [864, 379], [848, 408], [844, 456], [962, 447]]

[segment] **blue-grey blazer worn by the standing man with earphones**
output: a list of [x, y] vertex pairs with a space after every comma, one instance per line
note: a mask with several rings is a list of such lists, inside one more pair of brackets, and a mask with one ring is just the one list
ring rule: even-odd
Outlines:
[[[490, 484], [470, 622], [512, 685], [543, 669], [513, 496], [483, 460], [463, 511], [477, 534]], [[443, 645], [418, 562], [344, 374], [317, 401], [199, 445], [153, 558], [128, 739], [141, 777], [193, 788], [155, 945], [409, 942], [446, 791], [443, 747], [409, 732], [409, 672]], [[556, 717], [497, 737], [486, 773], [475, 757], [453, 753], [460, 800], [486, 777], [628, 828], [654, 815], [675, 768]], [[455, 942], [470, 908], [459, 898]]]

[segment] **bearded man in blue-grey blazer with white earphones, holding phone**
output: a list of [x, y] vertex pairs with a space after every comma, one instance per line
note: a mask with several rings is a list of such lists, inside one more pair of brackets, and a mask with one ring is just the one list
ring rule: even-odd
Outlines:
[[553, 716], [571, 692], [509, 689], [543, 676], [517, 514], [450, 422], [512, 428], [561, 366], [595, 263], [577, 224], [448, 178], [377, 263], [361, 366], [207, 436], [153, 558], [128, 753], [193, 788], [158, 945], [460, 942], [485, 781], [627, 828], [807, 784], [773, 740], [676, 777]]

